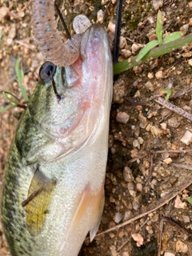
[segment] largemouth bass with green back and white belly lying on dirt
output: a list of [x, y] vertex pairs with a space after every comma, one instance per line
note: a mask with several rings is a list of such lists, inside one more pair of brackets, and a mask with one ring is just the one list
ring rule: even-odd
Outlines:
[[10, 146], [2, 224], [12, 256], [77, 256], [102, 215], [113, 85], [102, 26], [86, 30], [54, 81], [61, 100], [38, 82]]

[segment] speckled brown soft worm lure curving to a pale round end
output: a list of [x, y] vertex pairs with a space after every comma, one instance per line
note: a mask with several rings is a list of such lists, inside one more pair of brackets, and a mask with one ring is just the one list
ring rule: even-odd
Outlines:
[[84, 15], [74, 18], [73, 26], [77, 34], [62, 42], [54, 17], [53, 0], [33, 0], [32, 17], [34, 38], [46, 59], [57, 66], [73, 64], [79, 56], [82, 34], [91, 26], [90, 20]]

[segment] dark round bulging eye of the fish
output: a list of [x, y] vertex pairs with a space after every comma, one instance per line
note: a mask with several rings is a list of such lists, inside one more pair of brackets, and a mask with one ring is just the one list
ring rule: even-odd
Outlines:
[[49, 82], [51, 77], [54, 77], [54, 73], [56, 71], [57, 66], [55, 66], [52, 62], [45, 62], [40, 70], [39, 76], [44, 82]]

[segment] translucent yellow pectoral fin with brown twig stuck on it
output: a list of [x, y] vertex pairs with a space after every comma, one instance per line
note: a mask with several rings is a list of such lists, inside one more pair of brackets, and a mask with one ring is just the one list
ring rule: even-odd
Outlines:
[[26, 205], [26, 224], [32, 234], [38, 234], [43, 228], [55, 185], [56, 182], [47, 178], [38, 167], [30, 183], [26, 203], [23, 202]]

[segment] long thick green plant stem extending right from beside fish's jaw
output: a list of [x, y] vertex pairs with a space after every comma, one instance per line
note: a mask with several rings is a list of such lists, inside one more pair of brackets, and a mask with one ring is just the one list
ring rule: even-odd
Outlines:
[[[155, 47], [154, 49], [150, 50], [146, 56], [144, 56], [141, 59], [141, 62], [139, 64], [145, 63], [149, 61], [151, 58], [157, 58], [159, 56], [162, 56], [164, 54], [168, 54], [171, 51], [178, 49], [179, 47], [185, 46], [186, 43], [192, 42], [192, 34], [188, 34], [185, 37], [178, 38], [177, 40], [168, 42], [166, 44], [162, 44], [161, 46]], [[114, 64], [114, 74], [120, 74], [125, 70], [129, 70], [130, 68], [133, 68], [134, 66], [138, 66], [138, 62], [136, 62], [136, 59], [138, 57], [134, 56], [131, 57], [123, 62], [118, 62]]]

